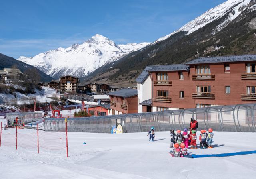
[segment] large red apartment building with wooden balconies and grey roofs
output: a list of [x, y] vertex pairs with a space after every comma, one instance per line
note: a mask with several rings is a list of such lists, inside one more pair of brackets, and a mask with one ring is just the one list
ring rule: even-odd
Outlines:
[[[256, 101], [256, 55], [203, 57], [148, 70], [152, 111]], [[144, 111], [143, 111], [144, 112]]]

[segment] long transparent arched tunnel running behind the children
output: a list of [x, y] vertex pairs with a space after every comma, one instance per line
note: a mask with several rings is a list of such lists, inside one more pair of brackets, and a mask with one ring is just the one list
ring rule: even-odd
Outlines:
[[[156, 131], [168, 131], [188, 128], [191, 118], [198, 121], [198, 129], [213, 128], [215, 131], [256, 132], [256, 103], [68, 118], [68, 131], [110, 133], [112, 126], [118, 126], [118, 124], [122, 126], [124, 132], [147, 132], [152, 126]], [[44, 121], [44, 128], [46, 131], [64, 131], [64, 119], [47, 118]]]

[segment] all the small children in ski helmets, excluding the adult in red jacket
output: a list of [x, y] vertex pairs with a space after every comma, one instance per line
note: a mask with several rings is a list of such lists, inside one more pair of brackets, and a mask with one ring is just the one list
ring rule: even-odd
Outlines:
[[[174, 148], [170, 151], [170, 155], [173, 157], [184, 157], [184, 155], [188, 155], [188, 146], [191, 146], [190, 149], [197, 149], [197, 136], [196, 130], [190, 130], [188, 133], [188, 128], [184, 128], [183, 132], [181, 130], [176, 131], [175, 134], [174, 130], [170, 130], [171, 135], [171, 145], [170, 148]], [[206, 130], [201, 130], [199, 135], [200, 140], [200, 149], [205, 148], [213, 148], [212, 147], [212, 138], [213, 138], [213, 130], [212, 128], [208, 129], [208, 133]], [[154, 127], [150, 129], [148, 132], [149, 141], [154, 141], [155, 132]]]

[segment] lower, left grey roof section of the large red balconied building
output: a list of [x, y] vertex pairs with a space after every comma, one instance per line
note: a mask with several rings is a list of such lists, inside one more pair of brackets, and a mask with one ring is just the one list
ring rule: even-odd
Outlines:
[[172, 65], [156, 65], [148, 72], [155, 71], [189, 71], [189, 66], [186, 64], [172, 64]]

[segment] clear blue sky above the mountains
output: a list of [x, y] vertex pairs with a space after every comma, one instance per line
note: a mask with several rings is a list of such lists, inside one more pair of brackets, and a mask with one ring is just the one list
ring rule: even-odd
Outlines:
[[14, 58], [83, 43], [96, 33], [152, 42], [225, 0], [5, 0], [0, 53]]

